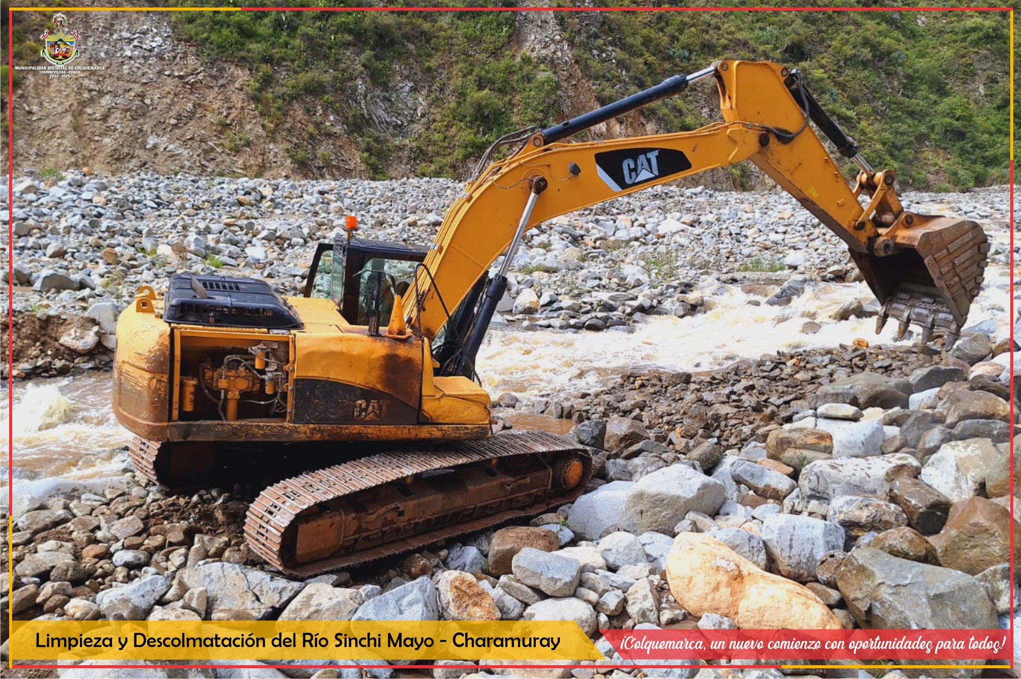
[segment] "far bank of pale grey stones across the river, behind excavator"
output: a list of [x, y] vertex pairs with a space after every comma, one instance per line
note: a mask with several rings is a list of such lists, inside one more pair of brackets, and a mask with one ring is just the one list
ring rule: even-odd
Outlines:
[[[164, 290], [175, 272], [261, 277], [300, 294], [315, 243], [332, 239], [348, 214], [366, 238], [428, 244], [460, 190], [446, 179], [98, 176], [88, 169], [15, 177], [14, 374], [108, 365], [116, 314], [140, 285]], [[986, 228], [990, 268], [971, 322], [1005, 336], [1007, 188], [909, 193], [905, 203]], [[860, 274], [839, 239], [781, 192], [648, 189], [532, 229], [512, 269], [496, 323], [525, 329], [626, 331], [649, 317], [757, 306], [769, 310], [762, 322], [799, 320], [807, 344], [832, 346], [830, 322], [876, 310], [863, 283], [843, 284]], [[6, 326], [0, 330], [5, 337]]]

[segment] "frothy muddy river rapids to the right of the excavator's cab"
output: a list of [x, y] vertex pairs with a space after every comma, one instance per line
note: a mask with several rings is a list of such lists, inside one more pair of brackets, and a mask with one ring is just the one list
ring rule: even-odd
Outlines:
[[[1007, 336], [1010, 300], [1006, 270], [990, 267], [986, 281], [972, 306], [969, 324], [992, 320], [995, 334]], [[477, 361], [483, 384], [494, 398], [502, 391], [540, 396], [596, 388], [605, 383], [607, 375], [622, 370], [708, 370], [778, 350], [836, 347], [856, 338], [902, 345], [914, 342], [911, 335], [893, 342], [895, 322], [876, 335], [873, 318], [832, 319], [833, 313], [854, 298], [866, 304], [873, 300], [865, 283], [809, 285], [786, 307], [768, 306], [763, 297], [734, 285], [702, 289], [713, 305], [707, 313], [688, 318], [654, 316], [630, 332], [623, 328], [604, 332], [490, 332]], [[801, 330], [810, 320], [821, 325], [815, 334]]]

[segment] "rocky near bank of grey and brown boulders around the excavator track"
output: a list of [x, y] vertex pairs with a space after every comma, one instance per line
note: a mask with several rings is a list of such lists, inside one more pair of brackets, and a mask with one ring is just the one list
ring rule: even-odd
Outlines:
[[[20, 494], [4, 602], [15, 619], [573, 620], [616, 663], [599, 628], [1004, 626], [1009, 349], [974, 333], [944, 355], [847, 346], [624, 374], [541, 409], [596, 461], [572, 505], [305, 581], [244, 544], [241, 486], [167, 497], [127, 474]], [[499, 402], [506, 419], [542, 405]], [[317, 676], [361, 676], [329, 662]], [[223, 672], [196, 676], [244, 676]], [[564, 676], [624, 674], [641, 676]]]

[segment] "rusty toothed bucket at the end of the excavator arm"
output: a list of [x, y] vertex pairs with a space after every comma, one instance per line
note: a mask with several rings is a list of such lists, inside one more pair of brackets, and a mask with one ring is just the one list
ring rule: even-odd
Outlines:
[[897, 338], [917, 324], [922, 344], [942, 331], [951, 347], [981, 288], [989, 243], [974, 221], [916, 215], [913, 222], [883, 234], [891, 242], [891, 254], [852, 256], [882, 305], [877, 333], [892, 318]]

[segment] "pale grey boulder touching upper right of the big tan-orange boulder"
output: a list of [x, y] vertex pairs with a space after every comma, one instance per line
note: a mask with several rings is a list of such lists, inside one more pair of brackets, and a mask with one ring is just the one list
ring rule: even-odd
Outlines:
[[810, 516], [773, 514], [763, 521], [762, 538], [780, 575], [800, 582], [816, 579], [816, 565], [827, 552], [842, 550], [843, 528]]

